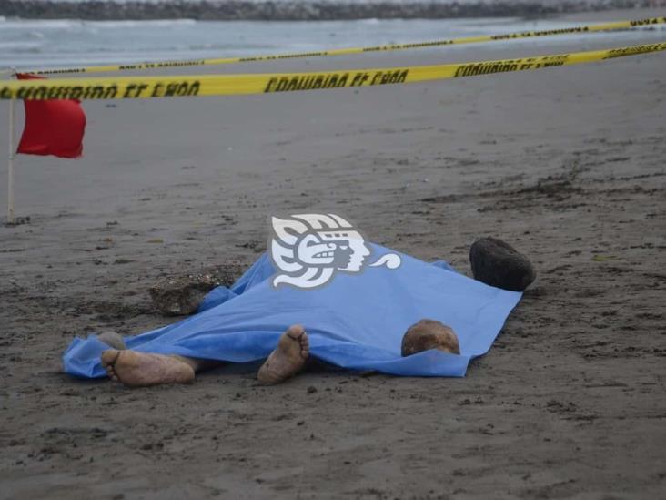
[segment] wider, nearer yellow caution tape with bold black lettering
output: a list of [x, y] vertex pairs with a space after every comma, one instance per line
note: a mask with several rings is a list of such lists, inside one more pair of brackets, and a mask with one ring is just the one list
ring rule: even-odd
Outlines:
[[551, 66], [593, 63], [616, 57], [666, 50], [666, 42], [554, 56], [439, 66], [343, 69], [318, 73], [259, 75], [197, 75], [170, 77], [103, 77], [6, 81], [1, 99], [136, 99], [152, 97], [233, 96], [328, 88], [371, 87], [476, 77]]

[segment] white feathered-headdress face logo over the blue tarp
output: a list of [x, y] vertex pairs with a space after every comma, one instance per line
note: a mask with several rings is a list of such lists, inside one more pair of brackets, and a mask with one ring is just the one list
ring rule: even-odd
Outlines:
[[[338, 215], [299, 214], [271, 219], [270, 255], [278, 273], [273, 286], [288, 284], [311, 289], [325, 285], [336, 272], [358, 273], [364, 269], [370, 249], [361, 232]], [[381, 256], [370, 267], [396, 269], [400, 257]]]

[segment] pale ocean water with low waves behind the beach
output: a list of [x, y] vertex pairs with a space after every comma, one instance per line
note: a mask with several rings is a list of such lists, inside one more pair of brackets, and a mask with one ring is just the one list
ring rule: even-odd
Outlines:
[[[259, 22], [21, 20], [0, 16], [0, 69], [257, 56], [570, 26], [579, 24], [507, 17]], [[655, 26], [647, 31], [567, 35], [557, 39], [577, 37], [606, 37], [609, 46], [622, 46], [662, 41], [666, 29]], [[519, 39], [505, 43], [536, 45], [540, 42], [539, 39]], [[489, 44], [492, 45], [498, 44]], [[445, 48], [455, 49], [456, 46]]]

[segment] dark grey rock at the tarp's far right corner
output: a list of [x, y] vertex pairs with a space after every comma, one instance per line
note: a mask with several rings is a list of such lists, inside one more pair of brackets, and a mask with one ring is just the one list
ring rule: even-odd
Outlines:
[[524, 291], [537, 277], [530, 260], [497, 238], [481, 238], [469, 249], [474, 279], [510, 291]]

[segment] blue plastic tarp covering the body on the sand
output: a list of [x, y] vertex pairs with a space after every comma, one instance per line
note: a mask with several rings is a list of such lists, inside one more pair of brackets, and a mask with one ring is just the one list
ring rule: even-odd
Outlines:
[[[376, 256], [389, 251], [370, 248]], [[251, 362], [266, 358], [280, 334], [300, 323], [310, 354], [325, 362], [395, 375], [463, 376], [469, 360], [488, 352], [521, 293], [469, 279], [445, 262], [399, 255], [396, 270], [339, 272], [326, 286], [301, 290], [273, 288], [275, 270], [264, 254], [230, 289], [211, 291], [197, 314], [125, 342], [140, 352]], [[460, 355], [433, 350], [403, 358], [402, 336], [423, 318], [453, 328]], [[105, 376], [99, 358], [106, 349], [95, 335], [76, 338], [63, 355], [65, 372]]]

